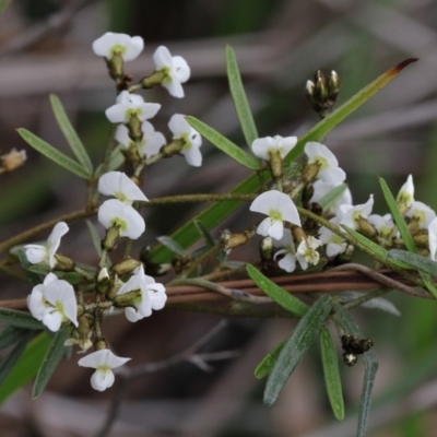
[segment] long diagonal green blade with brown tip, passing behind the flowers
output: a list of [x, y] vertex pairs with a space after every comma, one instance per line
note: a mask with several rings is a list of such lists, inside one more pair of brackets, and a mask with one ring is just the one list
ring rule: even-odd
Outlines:
[[[333, 110], [328, 117], [319, 121], [312, 129], [310, 129], [306, 134], [304, 134], [297, 145], [288, 153], [286, 156], [286, 162], [291, 163], [304, 151], [304, 146], [308, 141], [320, 141], [326, 137], [336, 125], [343, 121], [349, 115], [362, 106], [369, 97], [371, 97], [377, 91], [379, 91], [383, 85], [390, 82], [395, 75], [409, 63], [413, 62], [414, 59], [408, 59], [401, 62], [393, 69], [383, 73], [381, 76], [376, 79], [369, 85], [365, 86], [358, 91], [354, 96], [352, 96], [344, 105], [340, 106], [338, 109]], [[258, 134], [256, 135], [258, 137]], [[249, 142], [249, 141], [248, 141]], [[251, 143], [251, 142], [249, 142]], [[297, 149], [296, 149], [297, 147]], [[263, 172], [262, 179], [270, 180], [270, 172]], [[240, 182], [237, 187], [233, 189], [233, 193], [247, 194], [253, 193], [259, 190], [260, 184], [258, 176], [253, 175]], [[226, 216], [234, 212], [239, 205], [240, 201], [229, 201], [229, 202], [216, 202], [200, 212], [193, 220], [200, 220], [204, 226], [209, 229], [221, 223]], [[184, 226], [179, 227], [176, 232], [172, 234], [172, 238], [177, 241], [181, 247], [188, 248], [193, 245], [199, 239], [199, 234], [193, 225], [192, 221], [186, 223]], [[172, 251], [164, 246], [157, 246], [153, 250], [153, 259], [156, 262], [168, 262], [172, 257]]]

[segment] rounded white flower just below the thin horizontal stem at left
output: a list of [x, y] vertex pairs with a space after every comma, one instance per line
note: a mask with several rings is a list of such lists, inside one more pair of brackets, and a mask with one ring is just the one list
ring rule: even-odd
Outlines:
[[121, 237], [137, 239], [145, 231], [143, 217], [132, 206], [117, 199], [103, 202], [97, 218], [106, 229], [117, 226]]

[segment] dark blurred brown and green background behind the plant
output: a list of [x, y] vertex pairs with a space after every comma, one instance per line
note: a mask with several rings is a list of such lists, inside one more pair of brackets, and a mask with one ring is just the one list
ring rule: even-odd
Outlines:
[[[69, 153], [50, 110], [48, 95], [55, 93], [94, 162], [102, 160], [110, 134], [104, 109], [114, 103], [115, 91], [104, 61], [94, 56], [91, 45], [107, 31], [144, 38], [143, 55], [126, 64], [135, 79], [152, 72], [152, 54], [158, 45], [166, 45], [190, 64], [192, 75], [184, 86], [184, 99], [163, 90], [143, 94], [163, 105], [153, 120], [157, 130], [168, 138], [169, 117], [189, 114], [243, 146], [227, 88], [226, 44], [236, 51], [260, 137], [300, 135], [318, 121], [304, 93], [316, 69], [334, 69], [340, 74], [342, 103], [390, 67], [420, 58], [324, 142], [347, 174], [354, 203], [374, 193], [375, 212], [385, 213], [377, 176], [383, 176], [397, 192], [413, 174], [416, 200], [437, 208], [436, 1], [14, 0], [0, 23], [0, 147], [2, 153], [25, 149], [28, 155], [23, 168], [1, 175], [2, 239], [83, 208], [83, 181], [31, 150], [15, 129], [24, 127]], [[201, 151], [204, 163], [200, 168], [178, 157], [152, 166], [145, 194], [225, 192], [248, 175], [211, 144], [204, 143]], [[200, 208], [147, 210], [147, 229], [135, 248], [153, 245], [156, 236], [169, 234]], [[243, 208], [226, 226], [241, 231], [245, 217]], [[40, 236], [45, 238], [47, 234]], [[96, 262], [84, 223], [71, 225], [61, 249], [83, 262]], [[234, 253], [235, 259], [247, 256], [245, 250]], [[29, 293], [28, 284], [5, 275], [1, 284], [2, 298]], [[389, 297], [401, 317], [353, 311], [380, 358], [368, 435], [435, 436], [437, 307], [397, 293]], [[181, 351], [221, 318], [165, 309], [134, 326], [123, 317], [115, 320], [105, 327], [111, 347], [139, 364]], [[298, 366], [277, 404], [262, 405], [264, 381], [253, 378], [253, 369], [293, 326], [291, 321], [229, 318], [204, 351], [237, 350], [239, 357], [212, 363], [211, 373], [184, 363], [138, 381], [110, 435], [354, 435], [362, 362], [342, 370], [346, 418], [341, 424], [330, 413], [316, 347]], [[104, 421], [111, 391], [94, 392], [90, 376], [91, 370], [78, 367], [74, 354], [58, 368], [38, 400], [29, 400], [31, 388], [26, 387], [0, 408], [0, 435], [93, 435]]]

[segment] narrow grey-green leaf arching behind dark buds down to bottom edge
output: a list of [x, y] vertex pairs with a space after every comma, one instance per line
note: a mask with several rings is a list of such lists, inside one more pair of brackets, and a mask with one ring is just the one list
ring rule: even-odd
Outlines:
[[[335, 304], [335, 312], [339, 316], [340, 322], [344, 330], [357, 339], [363, 339], [358, 327], [352, 320], [351, 316], [342, 308], [341, 305]], [[356, 437], [364, 437], [366, 435], [368, 416], [370, 413], [371, 390], [374, 388], [376, 373], [378, 371], [378, 358], [374, 351], [367, 351], [363, 355], [364, 361], [364, 380], [363, 390], [359, 400], [358, 410], [358, 426]]]

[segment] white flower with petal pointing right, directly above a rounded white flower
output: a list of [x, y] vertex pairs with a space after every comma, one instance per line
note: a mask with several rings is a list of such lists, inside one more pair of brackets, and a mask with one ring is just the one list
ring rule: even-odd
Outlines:
[[125, 173], [108, 172], [98, 179], [98, 191], [114, 196], [120, 202], [132, 204], [134, 201], [147, 201], [140, 188]]

